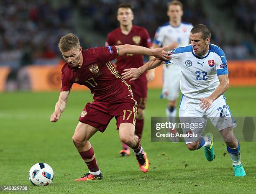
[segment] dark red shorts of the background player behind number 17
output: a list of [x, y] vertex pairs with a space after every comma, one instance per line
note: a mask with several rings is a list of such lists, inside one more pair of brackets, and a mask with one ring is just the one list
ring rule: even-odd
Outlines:
[[138, 108], [145, 109], [147, 102], [148, 85], [146, 76], [129, 83], [133, 91], [133, 98], [138, 103]]

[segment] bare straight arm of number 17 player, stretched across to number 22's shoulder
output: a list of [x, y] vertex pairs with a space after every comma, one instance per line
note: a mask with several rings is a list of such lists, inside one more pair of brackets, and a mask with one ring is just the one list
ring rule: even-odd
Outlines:
[[131, 44], [124, 44], [115, 46], [118, 49], [118, 56], [123, 56], [125, 54], [140, 54], [140, 55], [148, 55], [154, 56], [158, 59], [168, 61], [171, 59], [169, 53], [164, 51], [168, 48], [168, 46], [163, 48], [155, 48], [150, 49], [143, 46], [136, 46]]

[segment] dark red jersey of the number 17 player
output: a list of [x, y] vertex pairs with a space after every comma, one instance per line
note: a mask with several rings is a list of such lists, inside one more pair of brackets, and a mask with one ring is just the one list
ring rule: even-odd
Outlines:
[[132, 97], [131, 87], [110, 62], [117, 58], [115, 46], [88, 48], [82, 51], [80, 68], [67, 63], [61, 69], [61, 92], [71, 89], [73, 83], [87, 86], [95, 101], [122, 102]]

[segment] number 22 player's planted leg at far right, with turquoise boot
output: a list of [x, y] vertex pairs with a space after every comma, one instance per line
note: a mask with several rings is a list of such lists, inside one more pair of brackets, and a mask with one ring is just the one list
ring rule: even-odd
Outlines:
[[220, 134], [227, 144], [227, 151], [233, 162], [235, 176], [246, 176], [246, 172], [241, 164], [240, 145], [233, 133], [233, 128], [230, 127], [220, 130]]

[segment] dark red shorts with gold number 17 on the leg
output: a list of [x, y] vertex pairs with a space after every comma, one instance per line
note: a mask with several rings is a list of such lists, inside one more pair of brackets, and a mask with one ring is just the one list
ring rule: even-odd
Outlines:
[[117, 129], [120, 123], [136, 123], [137, 102], [127, 99], [125, 102], [89, 102], [85, 105], [79, 121], [86, 123], [104, 132], [110, 120], [115, 117]]

